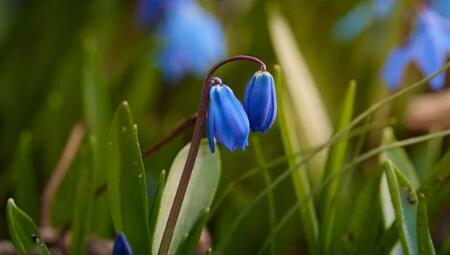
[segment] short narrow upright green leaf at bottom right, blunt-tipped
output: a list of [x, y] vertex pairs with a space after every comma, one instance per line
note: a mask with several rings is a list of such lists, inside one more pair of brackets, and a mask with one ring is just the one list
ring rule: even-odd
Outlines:
[[433, 240], [431, 239], [430, 229], [428, 228], [428, 209], [425, 195], [419, 194], [419, 209], [417, 215], [417, 239], [419, 242], [420, 255], [434, 255]]

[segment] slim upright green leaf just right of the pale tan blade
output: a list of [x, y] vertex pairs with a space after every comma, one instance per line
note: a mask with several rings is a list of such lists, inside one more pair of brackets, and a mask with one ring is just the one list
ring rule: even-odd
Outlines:
[[[352, 120], [355, 91], [356, 83], [351, 82], [342, 104], [342, 110], [338, 118], [336, 130], [345, 129]], [[335, 176], [339, 174], [344, 164], [348, 141], [349, 139], [342, 139], [330, 147], [325, 165], [325, 172], [322, 182], [327, 182], [329, 178], [333, 179], [333, 181], [325, 186], [320, 197], [321, 230], [319, 239], [321, 240], [321, 244], [319, 247], [320, 249], [323, 249], [325, 254], [328, 254], [331, 249], [334, 220], [337, 208], [336, 203], [339, 199], [340, 186], [342, 182], [340, 176], [337, 178], [335, 178]]]

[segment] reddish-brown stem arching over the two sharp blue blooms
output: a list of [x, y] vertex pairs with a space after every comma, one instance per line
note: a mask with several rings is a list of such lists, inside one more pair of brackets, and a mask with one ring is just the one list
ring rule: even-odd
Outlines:
[[186, 164], [184, 165], [183, 173], [180, 179], [180, 184], [178, 185], [177, 193], [175, 194], [175, 198], [173, 200], [173, 204], [170, 209], [169, 218], [167, 219], [166, 227], [164, 229], [161, 245], [159, 246], [158, 255], [167, 255], [169, 253], [170, 243], [172, 241], [172, 236], [175, 231], [178, 215], [180, 214], [180, 209], [181, 205], [183, 204], [184, 195], [186, 194], [186, 190], [192, 174], [192, 169], [194, 168], [194, 163], [197, 158], [203, 130], [205, 130], [204, 126], [206, 121], [206, 114], [208, 112], [209, 91], [211, 89], [211, 84], [216, 82], [214, 79], [213, 80], [211, 79], [213, 78], [214, 72], [216, 72], [220, 67], [234, 61], [247, 61], [257, 63], [259, 64], [259, 68], [261, 71], [266, 70], [266, 65], [261, 60], [251, 56], [238, 55], [227, 58], [222, 62], [217, 63], [216, 65], [211, 67], [208, 74], [206, 75], [203, 81], [203, 88], [200, 96], [200, 104], [197, 111], [197, 119], [195, 122], [194, 132], [192, 134], [191, 147], [189, 148]]

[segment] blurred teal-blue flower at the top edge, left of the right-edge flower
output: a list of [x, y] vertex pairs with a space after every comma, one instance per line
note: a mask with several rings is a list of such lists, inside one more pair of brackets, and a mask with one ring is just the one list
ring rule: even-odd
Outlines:
[[358, 36], [372, 23], [387, 17], [395, 0], [363, 1], [351, 9], [333, 28], [333, 37], [347, 41]]

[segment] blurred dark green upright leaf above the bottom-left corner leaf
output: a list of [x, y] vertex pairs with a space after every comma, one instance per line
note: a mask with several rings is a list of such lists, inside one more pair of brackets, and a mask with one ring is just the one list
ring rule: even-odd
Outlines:
[[14, 199], [22, 205], [24, 211], [34, 220], [39, 215], [39, 191], [37, 187], [36, 169], [33, 166], [33, 149], [31, 133], [26, 131], [20, 135], [16, 150], [12, 173], [14, 177]]

